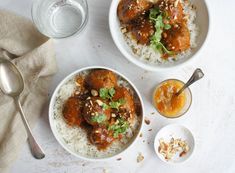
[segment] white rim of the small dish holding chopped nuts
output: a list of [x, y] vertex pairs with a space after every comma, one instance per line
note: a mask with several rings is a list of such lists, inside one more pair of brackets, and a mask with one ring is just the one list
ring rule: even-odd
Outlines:
[[[163, 158], [160, 157], [160, 153], [158, 153], [158, 150], [157, 150], [157, 137], [159, 135], [159, 133], [166, 129], [166, 128], [169, 128], [170, 126], [178, 126], [178, 127], [181, 127], [183, 128], [184, 130], [188, 131], [189, 134], [191, 135], [192, 139], [193, 139], [193, 146], [191, 146], [191, 153], [190, 155], [188, 156], [188, 158], [186, 158], [185, 160], [182, 160], [181, 162], [167, 162], [166, 160], [164, 160]], [[154, 147], [154, 151], [155, 151], [155, 154], [158, 156], [158, 158], [163, 161], [164, 163], [167, 163], [167, 164], [170, 164], [170, 165], [176, 165], [176, 164], [182, 164], [184, 162], [186, 162], [187, 160], [190, 159], [190, 157], [193, 155], [194, 153], [194, 150], [195, 150], [195, 138], [194, 138], [194, 135], [193, 133], [191, 132], [191, 130], [189, 130], [187, 127], [181, 125], [181, 124], [178, 124], [178, 123], [173, 123], [173, 124], [167, 124], [165, 126], [163, 126], [155, 135], [155, 138], [154, 138], [154, 143], [153, 143], [153, 147]]]

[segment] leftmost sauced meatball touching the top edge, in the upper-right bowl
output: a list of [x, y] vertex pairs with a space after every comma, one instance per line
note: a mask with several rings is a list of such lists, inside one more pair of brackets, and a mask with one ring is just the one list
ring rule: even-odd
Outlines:
[[147, 0], [121, 0], [118, 4], [117, 14], [122, 23], [129, 23], [139, 15], [145, 14], [152, 7]]

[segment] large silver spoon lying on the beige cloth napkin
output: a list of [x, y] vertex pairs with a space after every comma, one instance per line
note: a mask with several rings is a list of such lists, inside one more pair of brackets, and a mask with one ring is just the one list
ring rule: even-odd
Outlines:
[[45, 154], [41, 147], [37, 144], [35, 138], [32, 135], [28, 121], [25, 118], [23, 109], [20, 104], [20, 95], [24, 90], [24, 80], [17, 69], [17, 67], [8, 60], [0, 58], [0, 89], [2, 92], [15, 100], [15, 103], [20, 111], [21, 118], [28, 134], [29, 146], [32, 155], [36, 159], [43, 159]]

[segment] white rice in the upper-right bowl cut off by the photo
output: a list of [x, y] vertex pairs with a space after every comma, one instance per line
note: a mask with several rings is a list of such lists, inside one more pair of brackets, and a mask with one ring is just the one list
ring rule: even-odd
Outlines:
[[[159, 65], [159, 64], [169, 64], [173, 63], [179, 59], [187, 58], [191, 53], [192, 49], [197, 47], [197, 36], [199, 29], [194, 23], [196, 19], [196, 8], [191, 4], [190, 1], [181, 0], [185, 17], [187, 17], [187, 26], [190, 31], [190, 49], [180, 54], [177, 54], [174, 58], [169, 57], [167, 60], [161, 58], [161, 54], [155, 51], [151, 46], [137, 44], [136, 40], [133, 39], [131, 33], [124, 33], [124, 39], [126, 43], [131, 47], [132, 52], [139, 58], [141, 61], [147, 64]], [[122, 30], [122, 29], [121, 29]]]

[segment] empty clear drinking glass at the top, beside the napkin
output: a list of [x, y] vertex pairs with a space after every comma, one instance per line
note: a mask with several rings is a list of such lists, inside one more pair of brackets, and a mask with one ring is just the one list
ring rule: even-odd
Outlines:
[[34, 0], [32, 19], [38, 30], [51, 38], [80, 33], [87, 24], [86, 0]]

